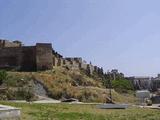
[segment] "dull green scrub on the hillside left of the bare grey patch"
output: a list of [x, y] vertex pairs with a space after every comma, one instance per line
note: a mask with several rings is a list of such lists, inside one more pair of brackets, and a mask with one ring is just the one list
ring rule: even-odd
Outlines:
[[21, 73], [3, 72], [2, 88], [0, 92], [0, 100], [34, 100], [36, 97], [32, 91], [33, 81], [31, 76], [23, 75]]

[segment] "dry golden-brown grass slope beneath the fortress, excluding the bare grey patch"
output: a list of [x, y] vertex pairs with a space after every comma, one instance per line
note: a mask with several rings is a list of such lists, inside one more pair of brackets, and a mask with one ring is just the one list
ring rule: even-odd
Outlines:
[[[55, 99], [61, 96], [78, 98], [84, 102], [104, 102], [109, 93], [98, 80], [89, 78], [81, 71], [54, 68], [45, 72], [9, 72], [18, 78], [36, 79], [41, 81]], [[113, 90], [113, 99], [116, 102], [135, 101], [133, 95], [121, 95]]]

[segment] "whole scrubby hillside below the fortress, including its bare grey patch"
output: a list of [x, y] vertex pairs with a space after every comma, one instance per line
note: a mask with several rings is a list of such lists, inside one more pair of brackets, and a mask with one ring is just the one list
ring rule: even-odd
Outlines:
[[[97, 78], [97, 79], [96, 79]], [[102, 84], [99, 76], [87, 76], [83, 70], [72, 70], [65, 67], [39, 72], [8, 72], [7, 80], [2, 86], [1, 99], [26, 99], [37, 96], [48, 96], [54, 99], [76, 98], [82, 102], [105, 102], [109, 91]], [[116, 102], [135, 101], [133, 95], [119, 94], [112, 90]], [[26, 96], [26, 95], [30, 96]]]

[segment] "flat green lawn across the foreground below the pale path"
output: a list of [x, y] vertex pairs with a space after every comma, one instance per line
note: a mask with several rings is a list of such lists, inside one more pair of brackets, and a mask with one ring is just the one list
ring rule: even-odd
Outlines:
[[102, 110], [96, 105], [7, 103], [21, 108], [21, 120], [159, 120], [159, 110]]

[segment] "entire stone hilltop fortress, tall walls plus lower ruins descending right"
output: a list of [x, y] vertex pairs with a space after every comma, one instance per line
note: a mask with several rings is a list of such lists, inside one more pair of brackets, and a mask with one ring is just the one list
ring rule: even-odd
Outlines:
[[60, 66], [70, 69], [89, 69], [90, 73], [100, 69], [87, 64], [81, 57], [63, 58], [50, 43], [24, 46], [20, 41], [0, 40], [0, 69], [38, 71]]

